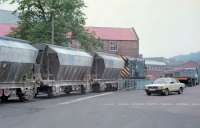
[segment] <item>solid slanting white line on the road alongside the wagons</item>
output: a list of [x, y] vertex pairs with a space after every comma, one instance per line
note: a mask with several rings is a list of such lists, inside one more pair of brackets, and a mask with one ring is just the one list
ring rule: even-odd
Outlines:
[[96, 97], [102, 97], [102, 96], [111, 95], [111, 94], [113, 94], [113, 92], [103, 93], [103, 94], [94, 95], [94, 96], [83, 97], [83, 98], [79, 98], [79, 99], [75, 99], [75, 100], [59, 103], [58, 105], [68, 105], [68, 104], [72, 104], [72, 103], [77, 103], [77, 102], [93, 99], [93, 98], [96, 98]]

